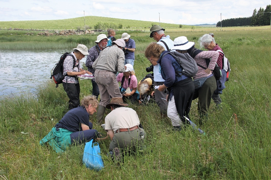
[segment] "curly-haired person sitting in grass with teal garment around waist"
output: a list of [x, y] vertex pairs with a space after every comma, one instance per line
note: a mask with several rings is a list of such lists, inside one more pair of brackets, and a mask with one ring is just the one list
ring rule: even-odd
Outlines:
[[64, 117], [40, 142], [46, 142], [57, 152], [64, 152], [66, 148], [75, 143], [85, 143], [96, 139], [98, 131], [92, 129], [89, 115], [96, 112], [98, 101], [95, 96], [86, 96], [81, 101], [81, 106], [69, 110]]

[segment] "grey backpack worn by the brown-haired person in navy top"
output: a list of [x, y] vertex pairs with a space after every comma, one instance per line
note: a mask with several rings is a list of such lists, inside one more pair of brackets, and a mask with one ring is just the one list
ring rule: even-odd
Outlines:
[[[182, 76], [185, 75], [187, 77], [193, 77], [197, 74], [198, 72], [198, 65], [196, 63], [196, 61], [188, 54], [188, 53], [179, 53], [176, 51], [170, 51], [165, 53], [162, 58], [167, 55], [170, 54], [173, 56], [173, 58], [175, 58], [175, 60], [180, 64], [180, 66], [182, 66], [182, 71], [176, 71], [176, 76]], [[181, 73], [181, 74], [178, 74]]]

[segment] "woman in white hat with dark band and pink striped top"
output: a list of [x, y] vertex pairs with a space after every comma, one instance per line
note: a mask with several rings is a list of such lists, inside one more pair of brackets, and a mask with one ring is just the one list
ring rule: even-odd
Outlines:
[[[212, 70], [216, 65], [219, 53], [216, 51], [201, 51], [194, 46], [194, 42], [189, 42], [185, 36], [181, 36], [174, 40], [173, 49], [180, 53], [188, 53], [198, 64], [198, 72], [193, 77], [195, 85], [193, 100], [198, 98], [198, 113], [200, 115], [200, 124], [202, 124], [208, 118], [211, 97], [216, 90], [216, 79], [212, 74]], [[206, 61], [208, 59], [210, 60], [209, 64]]]

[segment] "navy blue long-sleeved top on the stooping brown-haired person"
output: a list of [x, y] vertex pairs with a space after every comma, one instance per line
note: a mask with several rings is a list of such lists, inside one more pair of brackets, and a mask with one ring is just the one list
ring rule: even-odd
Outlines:
[[[161, 75], [163, 79], [165, 79], [164, 85], [167, 87], [171, 87], [174, 83], [182, 81], [186, 78], [188, 78], [185, 75], [177, 76], [177, 72], [182, 72], [182, 66], [175, 60], [175, 58], [167, 54], [162, 59], [161, 57], [167, 53], [168, 51], [162, 52], [160, 58], [158, 59], [157, 63], [161, 65]], [[181, 73], [178, 73], [179, 75]]]

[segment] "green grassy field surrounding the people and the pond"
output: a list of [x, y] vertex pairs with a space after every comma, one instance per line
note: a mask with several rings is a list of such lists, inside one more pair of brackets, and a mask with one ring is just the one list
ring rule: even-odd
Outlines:
[[[105, 156], [110, 142], [106, 140], [100, 143], [104, 169], [86, 169], [82, 164], [84, 145], [72, 146], [63, 154], [39, 146], [67, 112], [68, 98], [62, 85], [55, 88], [48, 81], [36, 87], [34, 97], [10, 95], [0, 100], [0, 179], [271, 179], [271, 31], [236, 28], [240, 30], [166, 32], [173, 40], [187, 36], [194, 42], [213, 32], [231, 63], [230, 80], [221, 95], [223, 109], [217, 110], [211, 102], [209, 119], [200, 126], [206, 136], [191, 128], [173, 132], [170, 119], [161, 119], [156, 104], [130, 104], [147, 133], [146, 152], [126, 155], [118, 167]], [[0, 31], [0, 49], [12, 49], [15, 44], [21, 49], [45, 48], [42, 44], [55, 48], [64, 44], [64, 48], [82, 43], [91, 47], [97, 36], [43, 37], [10, 32]], [[154, 40], [149, 32], [129, 34], [136, 41], [134, 68], [139, 81], [150, 65], [144, 50]], [[91, 93], [90, 81], [81, 80], [80, 87], [81, 98]], [[190, 117], [198, 124], [196, 103], [192, 102]], [[105, 133], [95, 118], [95, 114], [90, 118], [94, 128]]]

